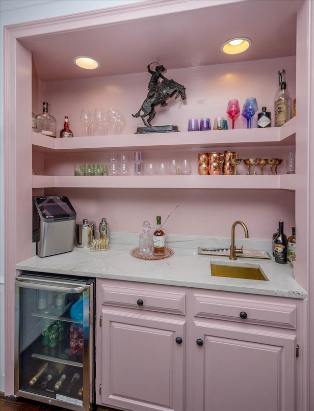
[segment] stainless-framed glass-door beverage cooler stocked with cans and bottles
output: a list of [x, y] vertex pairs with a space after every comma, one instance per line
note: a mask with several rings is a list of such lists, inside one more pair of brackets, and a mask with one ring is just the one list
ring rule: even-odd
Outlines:
[[94, 279], [15, 278], [15, 394], [67, 410], [95, 403]]

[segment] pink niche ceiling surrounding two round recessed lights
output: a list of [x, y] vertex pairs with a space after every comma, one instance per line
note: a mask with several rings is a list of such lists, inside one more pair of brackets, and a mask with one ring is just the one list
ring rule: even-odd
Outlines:
[[[32, 50], [38, 78], [46, 82], [144, 72], [157, 57], [167, 69], [284, 57], [296, 54], [301, 2], [241, 1], [20, 41]], [[252, 47], [240, 55], [221, 53], [221, 44], [237, 36], [250, 38]], [[76, 67], [78, 55], [96, 58], [100, 68]]]

